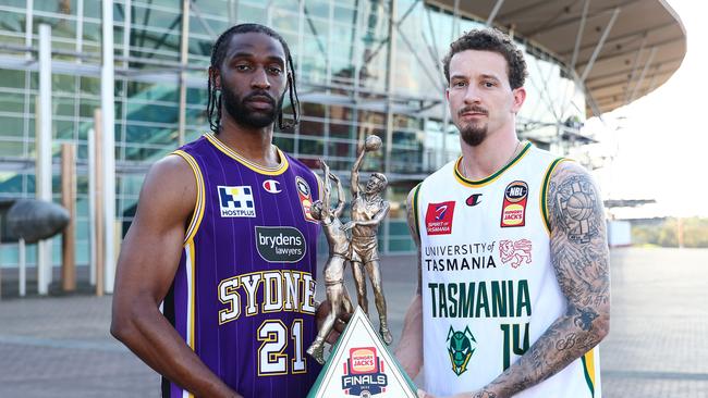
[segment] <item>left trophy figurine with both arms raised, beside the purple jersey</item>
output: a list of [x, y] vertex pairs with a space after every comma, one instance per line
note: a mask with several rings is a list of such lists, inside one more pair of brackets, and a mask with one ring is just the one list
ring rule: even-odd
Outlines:
[[[342, 222], [339, 216], [342, 215], [344, 210], [344, 189], [339, 177], [329, 171], [329, 166], [324, 160], [319, 161], [322, 171], [325, 172], [325, 184], [322, 200], [317, 200], [313, 203], [310, 214], [315, 220], [318, 220], [327, 237], [329, 244], [329, 258], [325, 264], [325, 286], [327, 291], [327, 299], [330, 303], [330, 311], [322, 323], [315, 341], [307, 348], [309, 353], [319, 363], [325, 363], [322, 356], [325, 348], [325, 339], [332, 331], [334, 322], [345, 311], [353, 312], [352, 300], [344, 286], [344, 266], [350, 251], [350, 239], [346, 232], [342, 229]], [[337, 208], [330, 209], [330, 191], [331, 183], [337, 183], [338, 202]]]

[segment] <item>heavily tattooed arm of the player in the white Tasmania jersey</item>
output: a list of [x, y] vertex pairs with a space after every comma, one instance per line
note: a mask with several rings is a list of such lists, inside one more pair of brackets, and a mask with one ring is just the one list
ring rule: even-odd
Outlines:
[[510, 397], [534, 386], [582, 357], [609, 332], [609, 250], [598, 190], [583, 167], [561, 163], [551, 176], [547, 204], [551, 262], [567, 300], [566, 311], [516, 363], [473, 397]]

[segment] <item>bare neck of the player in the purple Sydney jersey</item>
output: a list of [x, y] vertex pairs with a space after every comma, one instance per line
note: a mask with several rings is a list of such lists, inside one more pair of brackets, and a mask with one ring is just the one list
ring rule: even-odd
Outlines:
[[264, 167], [277, 167], [280, 164], [278, 151], [272, 146], [272, 124], [254, 128], [239, 124], [233, 119], [221, 117], [221, 130], [217, 138], [247, 160]]

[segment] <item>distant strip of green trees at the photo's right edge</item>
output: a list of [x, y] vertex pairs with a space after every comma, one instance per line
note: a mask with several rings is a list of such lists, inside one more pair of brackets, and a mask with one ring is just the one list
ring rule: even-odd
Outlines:
[[632, 223], [632, 241], [635, 246], [708, 248], [708, 219], [664, 219]]

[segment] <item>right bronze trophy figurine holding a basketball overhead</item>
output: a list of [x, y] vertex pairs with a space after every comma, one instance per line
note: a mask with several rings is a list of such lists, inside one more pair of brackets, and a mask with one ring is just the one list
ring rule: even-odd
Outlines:
[[364, 313], [368, 315], [368, 300], [366, 298], [366, 275], [368, 275], [374, 288], [376, 309], [379, 313], [379, 335], [381, 335], [383, 343], [390, 346], [393, 336], [386, 316], [386, 298], [381, 286], [377, 237], [379, 224], [390, 209], [389, 202], [381, 197], [388, 181], [381, 173], [371, 173], [365, 189], [362, 189], [358, 185], [359, 167], [364, 162], [364, 156], [366, 152], [376, 151], [379, 148], [381, 148], [379, 137], [373, 135], [366, 137], [364, 148], [362, 148], [352, 167], [352, 221], [342, 228], [352, 231], [350, 260], [352, 261], [358, 304]]

